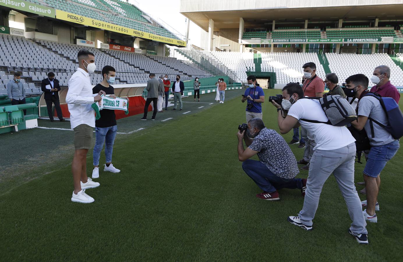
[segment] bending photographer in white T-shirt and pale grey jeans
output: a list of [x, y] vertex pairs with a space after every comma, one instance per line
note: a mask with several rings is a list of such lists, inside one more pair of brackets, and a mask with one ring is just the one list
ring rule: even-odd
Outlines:
[[305, 120], [327, 122], [319, 100], [303, 98], [303, 91], [298, 83], [290, 83], [283, 88], [283, 102], [287, 116], [282, 116], [279, 104], [278, 127], [282, 134], [301, 125], [307, 130], [309, 138], [316, 142], [309, 167], [305, 199], [302, 210], [297, 216], [289, 216], [288, 221], [305, 230], [312, 230], [312, 220], [318, 209], [322, 187], [333, 173], [347, 204], [353, 222], [349, 233], [358, 243], [368, 243], [366, 222], [362, 213], [361, 201], [354, 186], [355, 139], [346, 127], [336, 127], [324, 123], [311, 123]]

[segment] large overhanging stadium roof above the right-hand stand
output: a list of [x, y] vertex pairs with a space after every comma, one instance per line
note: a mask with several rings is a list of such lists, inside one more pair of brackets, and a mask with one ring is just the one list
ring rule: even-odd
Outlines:
[[209, 19], [214, 20], [214, 30], [216, 30], [239, 28], [239, 17], [244, 19], [245, 26], [264, 25], [272, 20], [298, 22], [305, 19], [310, 21], [403, 19], [403, 1], [181, 0], [180, 12], [208, 31]]

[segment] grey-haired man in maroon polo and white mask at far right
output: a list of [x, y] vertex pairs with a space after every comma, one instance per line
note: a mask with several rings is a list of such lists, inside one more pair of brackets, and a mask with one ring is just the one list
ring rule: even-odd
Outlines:
[[371, 88], [371, 92], [380, 94], [382, 97], [393, 98], [399, 104], [399, 91], [391, 84], [389, 78], [391, 78], [391, 69], [389, 67], [385, 65], [376, 67], [371, 76], [371, 82], [375, 84]]

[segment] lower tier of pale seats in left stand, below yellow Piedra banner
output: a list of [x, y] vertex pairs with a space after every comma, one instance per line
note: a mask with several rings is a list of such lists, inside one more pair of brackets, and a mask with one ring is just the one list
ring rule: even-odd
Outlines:
[[[6, 84], [13, 78], [14, 72], [21, 72], [27, 94], [42, 92], [40, 85], [49, 71], [55, 73], [61, 86], [67, 86], [71, 75], [78, 67], [77, 52], [83, 48], [74, 44], [64, 44], [47, 40], [35, 40], [25, 37], [0, 34], [0, 94], [6, 94]], [[116, 68], [115, 85], [126, 83], [145, 83], [149, 73], [168, 74], [170, 79], [181, 75], [182, 80], [211, 75], [189, 66], [175, 58], [144, 56], [117, 50], [98, 50], [88, 48], [96, 55], [98, 70], [108, 64]], [[116, 59], [117, 58], [117, 59]], [[91, 83], [102, 81], [100, 72], [91, 74]]]

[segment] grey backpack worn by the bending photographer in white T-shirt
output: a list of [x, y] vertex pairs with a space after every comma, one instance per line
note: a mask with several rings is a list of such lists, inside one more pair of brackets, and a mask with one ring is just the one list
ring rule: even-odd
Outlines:
[[319, 100], [320, 105], [322, 106], [322, 109], [329, 121], [321, 122], [316, 120], [301, 119], [302, 121], [343, 127], [358, 118], [355, 110], [351, 107], [350, 103], [340, 95], [325, 96], [323, 98], [304, 97], [304, 99]]

